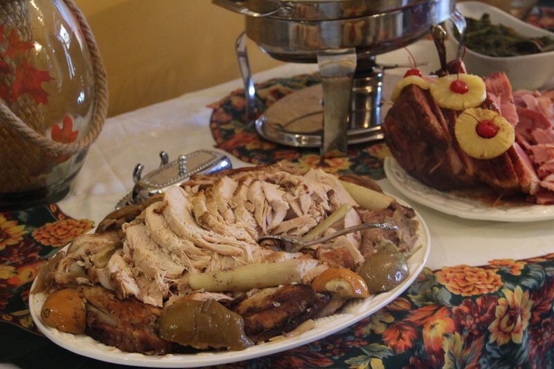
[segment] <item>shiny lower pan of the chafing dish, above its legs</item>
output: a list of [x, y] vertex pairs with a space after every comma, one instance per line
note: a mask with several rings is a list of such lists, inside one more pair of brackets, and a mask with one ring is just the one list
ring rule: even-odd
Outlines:
[[285, 62], [317, 60], [317, 51], [356, 48], [357, 55], [386, 53], [408, 45], [448, 19], [454, 0], [434, 0], [376, 15], [324, 21], [247, 17], [246, 33], [267, 54]]

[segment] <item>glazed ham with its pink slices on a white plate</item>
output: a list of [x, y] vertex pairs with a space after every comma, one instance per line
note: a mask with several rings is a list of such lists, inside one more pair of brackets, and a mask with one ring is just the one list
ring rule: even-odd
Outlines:
[[[447, 64], [448, 73], [466, 73], [461, 60]], [[517, 141], [494, 159], [473, 159], [454, 135], [461, 111], [439, 107], [428, 90], [409, 85], [389, 109], [385, 141], [398, 163], [413, 177], [438, 190], [470, 188], [481, 183], [501, 195], [524, 192], [539, 204], [554, 204], [553, 93], [512, 92], [504, 73], [483, 78], [487, 98], [481, 105], [501, 114], [516, 129]]]

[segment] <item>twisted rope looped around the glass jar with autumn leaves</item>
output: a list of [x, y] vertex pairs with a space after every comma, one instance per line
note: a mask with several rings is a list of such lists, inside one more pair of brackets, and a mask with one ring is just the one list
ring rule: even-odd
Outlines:
[[104, 64], [102, 63], [102, 57], [98, 51], [96, 39], [94, 39], [87, 19], [84, 18], [81, 10], [75, 5], [73, 0], [64, 0], [64, 3], [69, 10], [73, 12], [73, 15], [75, 15], [79, 22], [79, 26], [84, 35], [84, 39], [87, 42], [93, 63], [96, 96], [94, 99], [92, 125], [89, 132], [87, 132], [87, 135], [82, 137], [79, 141], [75, 141], [73, 143], [60, 143], [52, 141], [39, 132], [36, 132], [35, 129], [26, 125], [26, 123], [16, 116], [6, 105], [6, 103], [0, 99], [0, 120], [3, 123], [7, 123], [11, 129], [19, 133], [21, 137], [26, 138], [28, 142], [33, 143], [52, 156], [73, 155], [89, 147], [96, 140], [102, 130], [108, 107], [106, 71], [104, 69]]

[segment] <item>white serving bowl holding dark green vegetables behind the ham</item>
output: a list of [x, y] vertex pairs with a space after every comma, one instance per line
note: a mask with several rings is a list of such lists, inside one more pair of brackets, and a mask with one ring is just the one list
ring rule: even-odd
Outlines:
[[[503, 24], [513, 28], [519, 35], [528, 37], [548, 36], [554, 39], [554, 33], [531, 26], [499, 8], [478, 1], [464, 1], [456, 5], [465, 17], [480, 19], [488, 13], [492, 24]], [[455, 55], [458, 40], [453, 36], [452, 23], [447, 22], [449, 31], [449, 55]], [[532, 55], [512, 57], [491, 57], [476, 53], [467, 48], [463, 59], [467, 71], [476, 75], [490, 75], [492, 72], [506, 72], [512, 87], [517, 89], [539, 89], [554, 76], [554, 51]]]

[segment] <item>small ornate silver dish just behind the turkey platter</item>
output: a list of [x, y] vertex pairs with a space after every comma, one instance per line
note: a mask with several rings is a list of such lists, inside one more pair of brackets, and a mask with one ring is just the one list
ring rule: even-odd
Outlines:
[[134, 187], [116, 205], [116, 209], [127, 205], [140, 205], [149, 197], [165, 192], [171, 186], [180, 186], [194, 174], [212, 174], [231, 169], [229, 158], [219, 152], [198, 150], [180, 155], [169, 161], [166, 152], [160, 152], [159, 168], [142, 176], [144, 165], [139, 163], [133, 170]]

